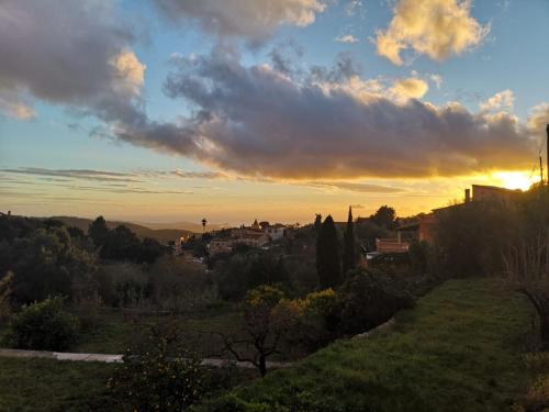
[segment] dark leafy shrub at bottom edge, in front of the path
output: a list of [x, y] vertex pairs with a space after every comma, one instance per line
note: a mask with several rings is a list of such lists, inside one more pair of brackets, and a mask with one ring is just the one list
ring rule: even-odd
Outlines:
[[167, 337], [150, 337], [145, 350], [128, 350], [108, 387], [132, 411], [181, 411], [204, 392], [200, 359]]

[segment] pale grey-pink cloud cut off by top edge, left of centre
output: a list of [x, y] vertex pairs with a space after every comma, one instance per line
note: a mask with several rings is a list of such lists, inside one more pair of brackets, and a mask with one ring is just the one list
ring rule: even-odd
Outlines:
[[170, 19], [197, 21], [203, 30], [251, 43], [267, 40], [280, 25], [306, 26], [326, 9], [324, 0], [156, 0]]

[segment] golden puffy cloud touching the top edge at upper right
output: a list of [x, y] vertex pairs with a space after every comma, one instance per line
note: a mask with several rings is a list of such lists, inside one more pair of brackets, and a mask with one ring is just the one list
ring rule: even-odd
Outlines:
[[490, 27], [470, 15], [469, 0], [400, 0], [385, 31], [378, 31], [378, 54], [395, 65], [413, 48], [436, 60], [460, 54], [482, 42]]

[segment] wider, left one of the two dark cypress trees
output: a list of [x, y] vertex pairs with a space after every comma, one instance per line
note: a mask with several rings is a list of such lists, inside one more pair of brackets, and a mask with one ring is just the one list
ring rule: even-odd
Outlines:
[[316, 237], [316, 274], [323, 289], [334, 288], [343, 282], [337, 231], [330, 215], [322, 224]]

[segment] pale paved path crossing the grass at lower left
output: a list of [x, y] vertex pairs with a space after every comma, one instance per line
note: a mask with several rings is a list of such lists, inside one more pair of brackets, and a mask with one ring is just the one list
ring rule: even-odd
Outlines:
[[[0, 356], [11, 358], [46, 358], [56, 360], [72, 360], [72, 361], [102, 361], [105, 364], [123, 363], [123, 355], [104, 355], [104, 354], [71, 354], [65, 352], [45, 352], [45, 350], [22, 350], [22, 349], [2, 349]], [[223, 368], [227, 366], [236, 366], [240, 369], [255, 369], [256, 367], [249, 361], [236, 361], [228, 359], [206, 358], [202, 359], [203, 366]], [[268, 369], [280, 369], [292, 366], [292, 363], [285, 361], [268, 361]]]

